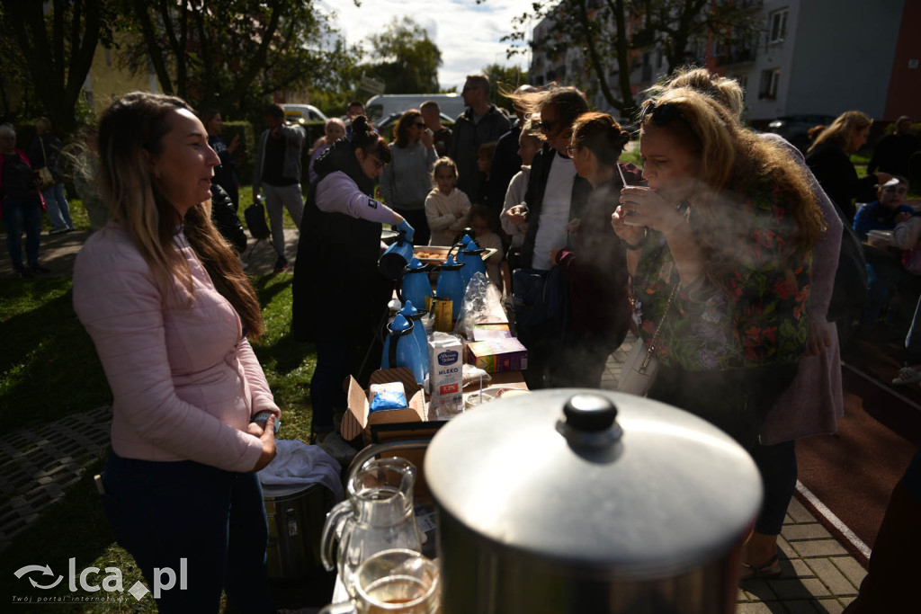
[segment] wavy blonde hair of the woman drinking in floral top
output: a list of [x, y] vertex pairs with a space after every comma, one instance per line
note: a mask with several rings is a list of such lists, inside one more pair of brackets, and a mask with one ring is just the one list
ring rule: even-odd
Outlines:
[[[724, 258], [727, 232], [744, 231], [746, 218], [738, 205], [752, 191], [768, 186], [777, 204], [796, 222], [792, 236], [785, 241], [785, 256], [811, 249], [824, 229], [822, 212], [810, 189], [806, 172], [787, 150], [743, 128], [732, 112], [714, 98], [689, 88], [666, 90], [647, 101], [651, 106], [643, 115], [641, 130], [664, 130], [692, 151], [698, 151], [701, 185], [694, 192], [694, 213], [701, 225], [695, 235], [708, 261], [707, 276], [721, 289], [734, 267]], [[671, 107], [657, 117], [657, 107]], [[670, 115], [669, 122], [659, 122]], [[727, 209], [734, 207], [732, 209]]]

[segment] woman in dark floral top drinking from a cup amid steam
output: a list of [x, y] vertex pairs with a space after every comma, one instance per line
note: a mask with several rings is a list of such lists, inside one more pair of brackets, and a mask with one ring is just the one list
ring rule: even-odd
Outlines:
[[647, 102], [640, 126], [649, 187], [624, 188], [612, 224], [643, 341], [658, 330], [649, 397], [751, 447], [806, 347], [822, 215], [782, 145], [712, 98], [671, 89]]

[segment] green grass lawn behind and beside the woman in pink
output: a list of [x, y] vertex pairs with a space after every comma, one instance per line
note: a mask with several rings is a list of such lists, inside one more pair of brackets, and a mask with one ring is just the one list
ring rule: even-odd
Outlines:
[[[308, 384], [316, 358], [312, 344], [295, 342], [290, 335], [291, 282], [290, 274], [253, 280], [266, 326], [262, 342], [253, 347], [283, 411], [280, 436], [309, 442]], [[2, 280], [0, 297], [0, 339], [5, 348], [0, 358], [0, 415], [5, 419], [6, 432], [111, 403], [93, 344], [71, 305], [69, 279]], [[64, 573], [70, 558], [76, 559], [78, 571], [90, 565], [118, 567], [125, 591], [142, 579], [131, 555], [115, 543], [96, 495], [92, 476], [102, 468], [104, 456], [100, 455], [64, 498], [49, 506], [3, 552], [0, 596], [4, 599], [14, 595], [73, 595], [65, 582], [52, 590], [37, 591], [13, 574], [32, 563], [47, 563], [54, 573]], [[194, 522], [194, 510], [188, 512], [176, 522]], [[95, 583], [106, 575], [101, 573]], [[76, 594], [99, 596], [104, 592], [89, 594], [78, 589]], [[136, 602], [127, 593], [123, 595], [127, 596], [124, 603], [55, 604], [53, 608], [61, 613], [157, 611], [149, 596]], [[17, 605], [16, 611], [48, 608], [48, 604]]]

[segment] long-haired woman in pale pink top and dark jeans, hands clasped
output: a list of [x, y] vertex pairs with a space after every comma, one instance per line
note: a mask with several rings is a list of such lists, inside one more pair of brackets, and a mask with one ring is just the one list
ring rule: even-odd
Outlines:
[[[279, 415], [247, 335], [262, 317], [210, 221], [218, 158], [180, 99], [134, 92], [99, 124], [110, 221], [74, 269], [74, 307], [112, 390], [103, 504], [160, 612], [272, 612], [262, 489]], [[157, 595], [159, 593], [159, 595]]]

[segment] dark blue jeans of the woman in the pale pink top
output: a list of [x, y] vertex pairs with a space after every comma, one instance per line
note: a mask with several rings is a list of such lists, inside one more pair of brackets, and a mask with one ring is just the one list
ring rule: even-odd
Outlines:
[[[165, 568], [176, 574], [175, 585], [157, 598], [161, 613], [217, 612], [222, 589], [235, 611], [274, 613], [265, 554], [268, 524], [256, 474], [112, 452], [102, 479], [115, 539], [134, 556], [148, 590], [153, 592], [157, 581], [165, 587]], [[185, 589], [181, 559], [186, 559]]]

